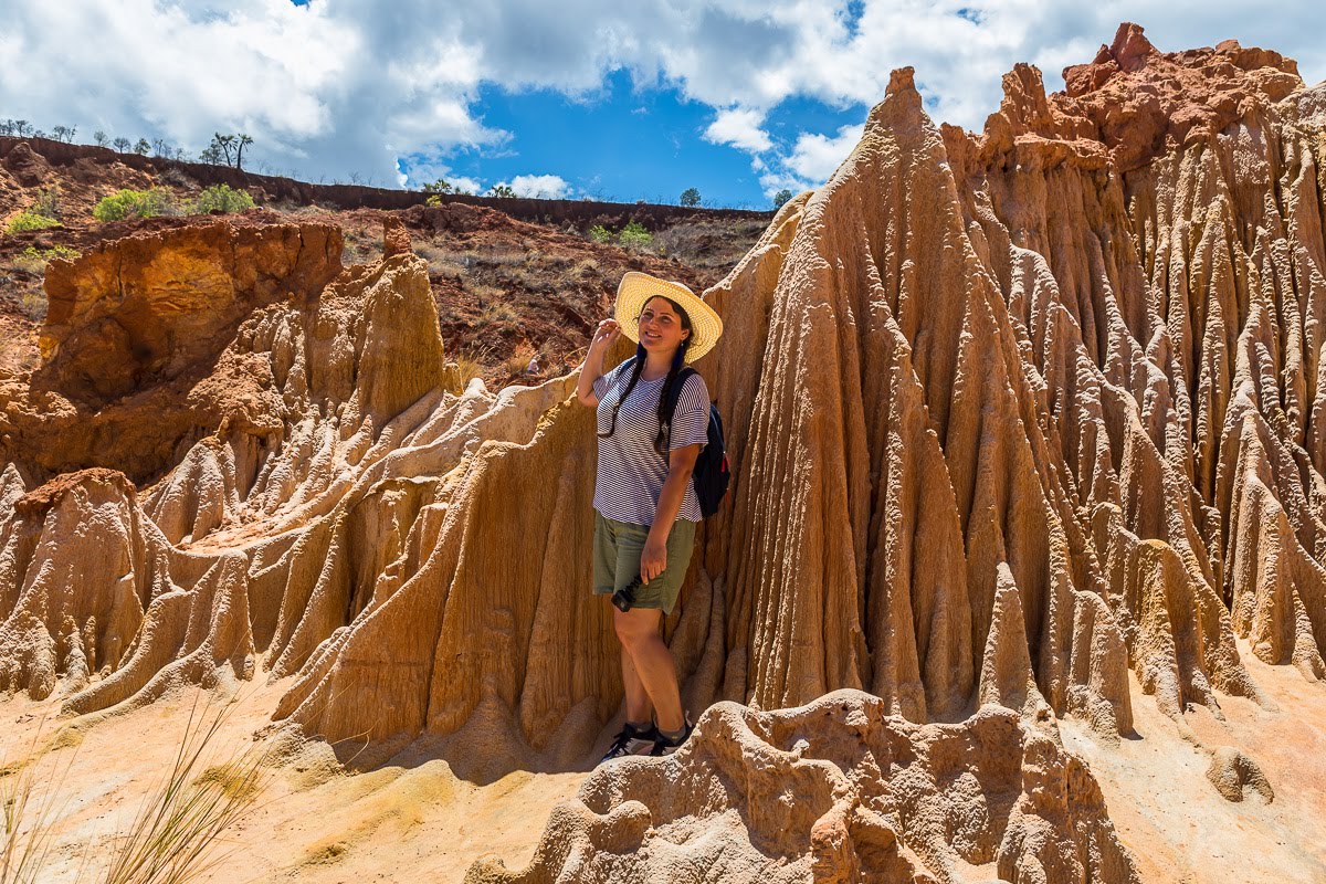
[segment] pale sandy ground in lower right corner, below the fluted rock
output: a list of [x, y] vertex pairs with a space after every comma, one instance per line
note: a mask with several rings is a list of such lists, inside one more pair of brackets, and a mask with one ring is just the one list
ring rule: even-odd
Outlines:
[[[1224, 721], [1189, 706], [1185, 733], [1134, 683], [1134, 738], [1106, 746], [1082, 722], [1061, 722], [1148, 883], [1326, 883], [1326, 684], [1258, 661], [1242, 641], [1238, 652], [1266, 706], [1221, 696]], [[1257, 762], [1276, 793], [1270, 804], [1250, 789], [1240, 803], [1216, 791], [1207, 769], [1217, 746]]]

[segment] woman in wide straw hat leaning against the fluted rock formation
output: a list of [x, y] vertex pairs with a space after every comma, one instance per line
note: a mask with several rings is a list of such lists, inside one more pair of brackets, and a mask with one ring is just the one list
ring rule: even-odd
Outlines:
[[[605, 375], [603, 355], [623, 333], [635, 341], [635, 358]], [[699, 374], [684, 379], [671, 427], [660, 425], [678, 372], [721, 334], [723, 321], [688, 288], [633, 272], [581, 366], [579, 402], [598, 416], [594, 592], [631, 596], [613, 610], [626, 725], [603, 761], [644, 749], [667, 754], [693, 728], [660, 626], [676, 604], [701, 518], [691, 472], [708, 439], [709, 391]]]

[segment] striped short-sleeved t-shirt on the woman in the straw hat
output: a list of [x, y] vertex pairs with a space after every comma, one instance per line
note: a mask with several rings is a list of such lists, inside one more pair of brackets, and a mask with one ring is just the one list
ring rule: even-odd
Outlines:
[[[617, 412], [617, 429], [598, 439], [598, 478], [594, 482], [594, 509], [605, 518], [633, 525], [652, 525], [658, 509], [667, 461], [654, 449], [659, 432], [659, 396], [667, 376], [635, 382], [631, 395]], [[631, 382], [631, 363], [626, 360], [594, 382], [598, 396], [598, 432], [606, 433], [613, 423], [613, 407]], [[704, 378], [692, 374], [682, 384], [672, 415], [672, 448], [700, 445], [709, 440], [709, 388]], [[686, 484], [678, 518], [699, 522], [700, 501], [695, 482]]]

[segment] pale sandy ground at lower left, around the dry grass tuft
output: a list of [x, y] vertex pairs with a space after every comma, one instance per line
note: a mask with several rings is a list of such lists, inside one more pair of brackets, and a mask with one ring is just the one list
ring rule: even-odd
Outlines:
[[[284, 688], [241, 685], [237, 700], [224, 704], [217, 751], [206, 753], [203, 767], [252, 745]], [[38, 790], [50, 789], [41, 802], [58, 820], [41, 881], [94, 880], [115, 832], [129, 827], [170, 769], [196, 697], [208, 718], [223, 705], [215, 694], [188, 692], [76, 729], [52, 718], [50, 702], [0, 702], [0, 765], [32, 757], [36, 747]], [[443, 754], [420, 741], [351, 774], [330, 747], [308, 745], [284, 759], [255, 807], [227, 831], [228, 855], [200, 880], [362, 884], [400, 880], [408, 869], [410, 877], [451, 883], [485, 854], [522, 867], [553, 804], [574, 795], [585, 777], [514, 770], [479, 783], [457, 777]]]

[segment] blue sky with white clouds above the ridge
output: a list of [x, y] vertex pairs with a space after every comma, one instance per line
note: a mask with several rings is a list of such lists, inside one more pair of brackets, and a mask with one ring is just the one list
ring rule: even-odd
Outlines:
[[[1029, 61], [1050, 89], [1120, 21], [1162, 50], [1236, 37], [1326, 77], [1318, 3], [1171, 0], [0, 0], [0, 118], [312, 182], [764, 208], [846, 158], [891, 69], [980, 129]], [[70, 48], [77, 48], [72, 50]]]

